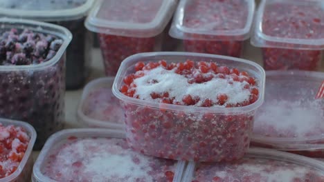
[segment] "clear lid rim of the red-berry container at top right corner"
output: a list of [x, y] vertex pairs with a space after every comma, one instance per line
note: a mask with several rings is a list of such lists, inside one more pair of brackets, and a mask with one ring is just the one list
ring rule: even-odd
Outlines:
[[[286, 46], [281, 45], [267, 45], [262, 43], [263, 41], [269, 41], [272, 43], [290, 43], [290, 44], [298, 44], [298, 45], [316, 45], [318, 48], [298, 48], [305, 50], [321, 50], [324, 47], [324, 39], [291, 39], [291, 38], [283, 38], [283, 37], [275, 37], [264, 34], [262, 31], [262, 17], [264, 14], [264, 8], [266, 7], [266, 3], [269, 0], [262, 0], [260, 6], [255, 14], [255, 25], [253, 30], [253, 39], [251, 39], [251, 44], [255, 47], [260, 48], [285, 48]], [[319, 2], [318, 0], [309, 0], [312, 2]], [[282, 2], [282, 1], [280, 1]], [[285, 3], [285, 2], [282, 2]], [[323, 10], [324, 11], [324, 10]], [[258, 41], [258, 39], [261, 39]]]

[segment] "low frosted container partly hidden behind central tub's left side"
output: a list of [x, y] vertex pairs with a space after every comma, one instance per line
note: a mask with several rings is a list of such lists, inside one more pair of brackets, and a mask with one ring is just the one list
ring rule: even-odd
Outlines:
[[124, 128], [124, 112], [111, 91], [114, 77], [91, 81], [82, 92], [78, 106], [78, 119], [91, 128]]

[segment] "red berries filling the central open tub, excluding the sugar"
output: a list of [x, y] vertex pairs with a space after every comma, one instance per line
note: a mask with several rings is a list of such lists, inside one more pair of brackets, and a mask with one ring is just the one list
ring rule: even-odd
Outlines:
[[[186, 75], [188, 83], [204, 83], [213, 79], [205, 77], [208, 72], [215, 73], [221, 79], [245, 81], [244, 88], [251, 91], [249, 101], [227, 104], [226, 93], [217, 95], [217, 102], [206, 99], [204, 105], [195, 105], [199, 98], [190, 95], [182, 101], [175, 101], [168, 96], [168, 92], [152, 93], [154, 101], [168, 106], [168, 103], [178, 105], [195, 105], [211, 107], [224, 105], [225, 107], [240, 107], [254, 103], [258, 99], [258, 88], [253, 77], [236, 68], [219, 66], [216, 63], [194, 61], [181, 63], [167, 63], [165, 61], [142, 63], [135, 65], [136, 72], [125, 77], [120, 92], [129, 96], [136, 96], [134, 79], [143, 77], [146, 70], [163, 67], [174, 70], [177, 74]], [[197, 74], [199, 72], [199, 74]], [[214, 75], [214, 74], [213, 74]], [[168, 159], [182, 159], [186, 161], [232, 161], [244, 155], [249, 147], [249, 135], [253, 126], [252, 112], [242, 113], [213, 113], [185, 110], [168, 110], [152, 108], [132, 103], [122, 103], [125, 110], [127, 141], [136, 151]]]

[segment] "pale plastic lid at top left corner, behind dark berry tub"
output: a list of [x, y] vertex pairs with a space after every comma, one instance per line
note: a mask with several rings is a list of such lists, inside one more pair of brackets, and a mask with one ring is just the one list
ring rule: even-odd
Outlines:
[[94, 0], [1, 0], [0, 16], [69, 21], [87, 16]]

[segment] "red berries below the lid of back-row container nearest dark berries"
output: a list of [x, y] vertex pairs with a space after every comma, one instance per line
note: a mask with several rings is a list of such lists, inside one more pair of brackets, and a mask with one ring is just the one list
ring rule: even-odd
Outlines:
[[140, 52], [154, 50], [154, 37], [136, 38], [109, 34], [98, 34], [107, 76], [115, 76], [120, 63], [127, 57]]

